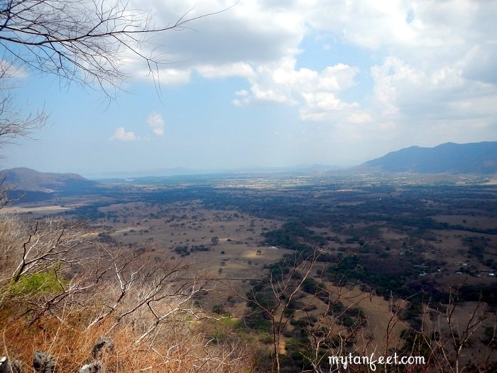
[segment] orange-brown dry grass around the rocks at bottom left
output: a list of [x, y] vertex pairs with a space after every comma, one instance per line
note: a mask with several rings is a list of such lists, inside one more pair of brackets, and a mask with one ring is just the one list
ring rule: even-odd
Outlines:
[[[94, 342], [109, 327], [109, 321], [84, 330], [77, 320], [68, 318], [61, 324], [54, 318], [43, 318], [26, 328], [25, 320], [3, 318], [3, 354], [11, 359], [31, 362], [36, 350], [48, 352], [56, 360], [58, 372], [77, 372], [91, 360]], [[131, 325], [123, 325], [106, 334], [114, 350], [104, 354], [105, 372], [249, 372], [251, 352], [241, 342], [219, 344], [206, 340], [199, 325], [165, 323], [160, 333], [136, 344]], [[219, 341], [218, 341], [219, 342]]]

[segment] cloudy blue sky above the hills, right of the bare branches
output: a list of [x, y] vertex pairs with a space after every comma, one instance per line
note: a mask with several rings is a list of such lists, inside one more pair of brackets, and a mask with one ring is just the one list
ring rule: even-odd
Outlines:
[[160, 173], [355, 166], [408, 146], [497, 141], [497, 1], [131, 0], [156, 25], [222, 11], [124, 58], [114, 99], [26, 70], [48, 127], [0, 168]]

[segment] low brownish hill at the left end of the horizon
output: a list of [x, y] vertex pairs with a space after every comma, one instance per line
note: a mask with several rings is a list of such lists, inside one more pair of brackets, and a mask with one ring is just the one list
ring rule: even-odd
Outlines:
[[0, 171], [0, 178], [4, 179], [3, 188], [29, 192], [76, 193], [99, 185], [76, 173], [45, 173], [23, 167]]

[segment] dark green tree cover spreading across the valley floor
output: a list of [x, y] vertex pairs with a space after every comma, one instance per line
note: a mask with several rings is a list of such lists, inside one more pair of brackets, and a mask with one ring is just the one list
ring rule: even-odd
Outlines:
[[[252, 335], [268, 346], [267, 350], [258, 352], [258, 360], [254, 362], [255, 369], [261, 372], [273, 368], [280, 372], [326, 371], [330, 351], [358, 351], [368, 325], [367, 311], [358, 306], [359, 302], [342, 296], [338, 289], [360, 289], [359, 295], [352, 299], [368, 294], [391, 302], [392, 320], [406, 325], [405, 332], [399, 335], [403, 347], [398, 352], [410, 349], [411, 355], [425, 355], [432, 362], [440, 359], [450, 343], [454, 343], [444, 342], [441, 346], [442, 337], [432, 340], [430, 337], [427, 341], [424, 329], [427, 310], [435, 323], [435, 315], [440, 317], [456, 306], [464, 307], [471, 302], [484, 304], [484, 308], [476, 306], [473, 311], [483, 323], [497, 306], [497, 284], [490, 276], [497, 268], [497, 229], [492, 224], [497, 221], [497, 190], [492, 186], [367, 183], [345, 179], [318, 183], [310, 179], [303, 185], [285, 188], [228, 188], [217, 185], [219, 180], [184, 181], [181, 187], [169, 180], [143, 190], [129, 185], [103, 188], [101, 198], [95, 199], [99, 202], [81, 204], [60, 215], [65, 219], [93, 222], [94, 229], [105, 231], [116, 222], [127, 221], [122, 213], [110, 208], [112, 205], [123, 205], [126, 213], [131, 209], [143, 210], [141, 221], [134, 223], [136, 227], [124, 236], [136, 230], [150, 235], [152, 228], [148, 227], [148, 220], [180, 229], [187, 220], [197, 221], [195, 209], [199, 206], [207, 210], [236, 211], [231, 212], [234, 218], [239, 214], [250, 216], [251, 223], [244, 229], [259, 233], [258, 247], [295, 253], [266, 263], [263, 271], [257, 272], [258, 279], [247, 284], [249, 291], [235, 291], [246, 308], [239, 320], [229, 325], [238, 335], [236, 338]], [[146, 208], [139, 207], [139, 203]], [[175, 215], [168, 208], [171, 204], [196, 207], [189, 207], [188, 215]], [[262, 227], [256, 232], [256, 218], [282, 223], [279, 227]], [[100, 232], [99, 242], [119, 246], [109, 232], [111, 229]], [[212, 236], [206, 237], [210, 239], [208, 244], [185, 239], [173, 245], [171, 258], [190, 258], [211, 252], [219, 243], [216, 234], [212, 231]], [[236, 237], [233, 238], [236, 241]], [[131, 244], [127, 249], [131, 257], [147, 252]], [[221, 254], [225, 254], [224, 250]], [[151, 255], [160, 266], [160, 256]], [[225, 256], [229, 259], [229, 255]], [[223, 261], [221, 265], [224, 264]], [[221, 267], [218, 273], [223, 273]], [[54, 291], [57, 283], [50, 274], [53, 274], [52, 267], [45, 271], [45, 284], [38, 288], [35, 276], [23, 281], [33, 283], [31, 291], [35, 293]], [[62, 282], [60, 286], [66, 285]], [[11, 296], [20, 294], [18, 287], [11, 289]], [[202, 294], [192, 298], [195, 306], [202, 306]], [[230, 307], [236, 305], [236, 301], [232, 295], [228, 298], [229, 301], [212, 306], [214, 315], [230, 315]], [[403, 301], [401, 305], [399, 302]], [[463, 345], [470, 348], [468, 346], [479, 339], [492, 345], [491, 327], [481, 325], [484, 325], [481, 333], [458, 335], [464, 342], [457, 348]], [[447, 330], [437, 333], [442, 335], [442, 332], [449, 333]], [[214, 334], [217, 343], [234, 341], [226, 330], [217, 329]], [[454, 339], [454, 334], [447, 336]], [[451, 359], [459, 360], [457, 354], [461, 350], [456, 352]], [[487, 369], [493, 364], [491, 359], [485, 362], [477, 357], [471, 359], [464, 364], [473, 364], [478, 369]], [[449, 367], [450, 361], [444, 364]]]

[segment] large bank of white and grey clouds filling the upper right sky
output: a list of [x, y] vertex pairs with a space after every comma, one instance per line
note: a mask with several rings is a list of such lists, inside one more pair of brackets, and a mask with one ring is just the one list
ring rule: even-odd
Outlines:
[[[466, 121], [471, 131], [476, 118], [483, 128], [497, 116], [496, 1], [141, 0], [139, 7], [154, 9], [158, 24], [189, 9], [190, 17], [227, 9], [153, 39], [175, 63], [160, 70], [161, 84], [187, 84], [192, 72], [243, 77], [249, 89], [234, 89], [236, 106], [290, 104], [303, 121], [356, 131], [367, 124], [381, 134], [388, 122], [399, 136], [445, 128], [447, 120]], [[301, 45], [311, 35], [321, 53], [354, 49], [370, 60], [360, 70], [348, 53], [320, 68], [302, 64], [312, 60]], [[361, 99], [349, 94], [356, 88]]]

